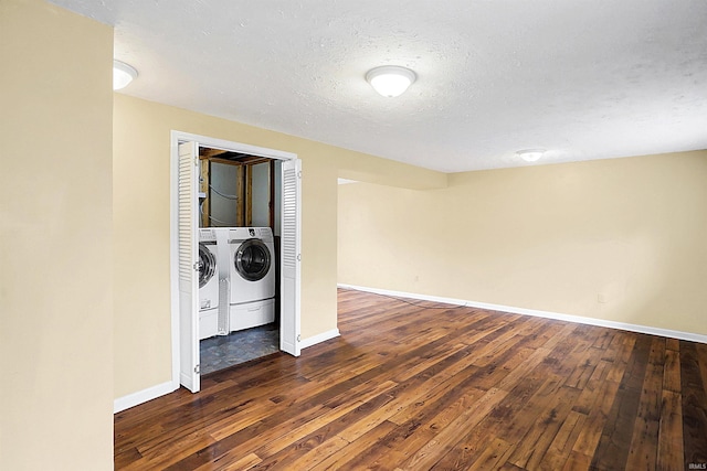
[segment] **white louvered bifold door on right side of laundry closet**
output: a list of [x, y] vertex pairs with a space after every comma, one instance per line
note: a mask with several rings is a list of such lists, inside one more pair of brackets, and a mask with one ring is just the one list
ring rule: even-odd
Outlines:
[[279, 350], [299, 356], [302, 161], [283, 161]]

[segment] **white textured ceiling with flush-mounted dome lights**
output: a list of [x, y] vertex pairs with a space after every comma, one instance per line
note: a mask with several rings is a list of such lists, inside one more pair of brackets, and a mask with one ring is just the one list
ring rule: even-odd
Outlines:
[[115, 26], [127, 95], [429, 169], [707, 149], [705, 0], [52, 3]]

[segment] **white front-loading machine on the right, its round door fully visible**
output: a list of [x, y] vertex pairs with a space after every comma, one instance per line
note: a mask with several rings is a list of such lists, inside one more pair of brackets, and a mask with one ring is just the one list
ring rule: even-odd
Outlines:
[[275, 320], [275, 242], [270, 227], [229, 231], [230, 330]]

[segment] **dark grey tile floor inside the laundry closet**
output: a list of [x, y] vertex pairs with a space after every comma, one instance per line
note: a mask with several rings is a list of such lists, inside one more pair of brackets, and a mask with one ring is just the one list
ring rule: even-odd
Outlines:
[[201, 374], [213, 373], [279, 351], [279, 327], [275, 323], [212, 336], [200, 342]]

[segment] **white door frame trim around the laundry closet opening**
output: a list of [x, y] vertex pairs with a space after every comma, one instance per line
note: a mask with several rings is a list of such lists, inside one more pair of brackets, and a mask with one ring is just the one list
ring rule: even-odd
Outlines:
[[[178, 207], [178, 182], [179, 182], [179, 143], [187, 141], [196, 141], [200, 147], [212, 149], [221, 149], [233, 152], [247, 153], [251, 156], [266, 157], [276, 160], [297, 160], [297, 154], [285, 152], [282, 150], [267, 149], [251, 146], [241, 142], [217, 139], [208, 136], [199, 136], [182, 131], [171, 131], [170, 135], [170, 291], [171, 291], [171, 342], [172, 342], [172, 387], [179, 388], [179, 361], [180, 361], [180, 342], [179, 342], [179, 207]], [[197, 197], [197, 195], [194, 195]], [[299, 213], [299, 212], [298, 212]], [[300, 213], [299, 213], [300, 214]], [[298, 216], [299, 216], [298, 214]], [[282, 215], [281, 215], [282, 217]], [[297, 221], [300, 226], [302, 221]], [[282, 221], [281, 221], [282, 227]], [[194, 234], [194, 237], [197, 235]], [[282, 274], [281, 274], [282, 278]], [[282, 280], [281, 280], [282, 282]], [[198, 295], [198, 293], [197, 293]], [[299, 293], [297, 293], [297, 302]], [[281, 312], [284, 310], [281, 307]], [[293, 310], [299, 317], [299, 309]], [[198, 315], [198, 312], [194, 313]], [[282, 319], [281, 319], [282, 323]], [[299, 319], [296, 319], [296, 325], [299, 325]], [[198, 339], [197, 339], [198, 342]]]

